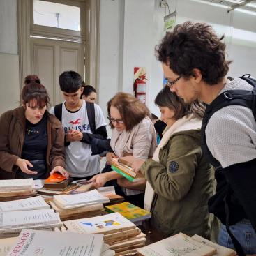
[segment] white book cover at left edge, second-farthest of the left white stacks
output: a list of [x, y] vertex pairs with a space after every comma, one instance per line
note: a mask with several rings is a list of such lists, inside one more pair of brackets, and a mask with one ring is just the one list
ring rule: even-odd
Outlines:
[[43, 197], [29, 197], [26, 199], [0, 202], [1, 211], [28, 211], [36, 209], [49, 209], [48, 205]]

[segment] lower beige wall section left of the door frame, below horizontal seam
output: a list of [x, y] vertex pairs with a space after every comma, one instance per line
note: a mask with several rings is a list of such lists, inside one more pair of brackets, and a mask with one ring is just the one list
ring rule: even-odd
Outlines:
[[0, 53], [0, 114], [19, 105], [19, 56]]

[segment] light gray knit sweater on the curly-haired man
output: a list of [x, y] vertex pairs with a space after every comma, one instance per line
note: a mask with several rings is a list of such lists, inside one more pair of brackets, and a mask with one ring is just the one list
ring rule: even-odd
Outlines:
[[[240, 78], [228, 82], [220, 91], [253, 87]], [[211, 154], [223, 168], [256, 158], [256, 121], [253, 112], [243, 106], [227, 106], [211, 116], [205, 130]]]

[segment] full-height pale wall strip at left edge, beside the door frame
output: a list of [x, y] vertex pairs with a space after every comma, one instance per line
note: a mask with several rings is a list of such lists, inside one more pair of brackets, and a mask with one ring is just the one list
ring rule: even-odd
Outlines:
[[0, 114], [20, 99], [17, 0], [0, 1]]

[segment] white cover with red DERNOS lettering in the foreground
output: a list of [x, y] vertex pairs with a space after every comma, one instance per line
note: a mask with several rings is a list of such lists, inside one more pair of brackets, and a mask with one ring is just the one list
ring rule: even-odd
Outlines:
[[6, 256], [100, 256], [103, 235], [23, 229]]

